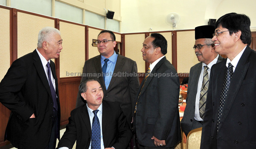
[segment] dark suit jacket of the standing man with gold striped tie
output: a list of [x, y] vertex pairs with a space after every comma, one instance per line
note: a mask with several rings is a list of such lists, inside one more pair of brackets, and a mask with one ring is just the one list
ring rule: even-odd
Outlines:
[[134, 117], [138, 142], [143, 146], [156, 147], [154, 140], [151, 140], [153, 135], [165, 140], [165, 147], [174, 147], [181, 140], [178, 109], [180, 82], [176, 74], [173, 65], [163, 57], [145, 82]]

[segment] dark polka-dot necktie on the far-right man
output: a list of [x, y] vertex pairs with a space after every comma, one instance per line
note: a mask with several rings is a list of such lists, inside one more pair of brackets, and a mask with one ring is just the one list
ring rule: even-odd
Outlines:
[[227, 97], [227, 92], [228, 92], [228, 88], [230, 86], [230, 81], [232, 79], [232, 75], [233, 75], [233, 65], [231, 63], [228, 63], [227, 73], [226, 73], [224, 85], [223, 85], [222, 92], [221, 92], [220, 107], [218, 109], [217, 131], [218, 131], [218, 126], [221, 121], [221, 115], [222, 115], [221, 113], [222, 113], [222, 110], [224, 107], [225, 99]]

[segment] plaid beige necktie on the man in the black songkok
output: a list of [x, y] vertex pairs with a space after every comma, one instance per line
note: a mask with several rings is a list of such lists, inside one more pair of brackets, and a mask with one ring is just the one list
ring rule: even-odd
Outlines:
[[200, 117], [204, 119], [204, 110], [205, 110], [205, 102], [207, 97], [207, 91], [209, 86], [209, 75], [208, 70], [209, 67], [207, 65], [204, 66], [204, 76], [203, 76], [203, 82], [202, 87], [200, 91], [200, 100], [199, 100], [199, 113]]

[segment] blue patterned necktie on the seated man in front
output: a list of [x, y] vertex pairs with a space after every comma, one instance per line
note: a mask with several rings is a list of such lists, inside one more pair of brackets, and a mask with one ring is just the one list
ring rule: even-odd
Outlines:
[[91, 149], [100, 149], [100, 124], [99, 118], [97, 117], [97, 112], [99, 110], [94, 110], [93, 124], [92, 124], [92, 143]]

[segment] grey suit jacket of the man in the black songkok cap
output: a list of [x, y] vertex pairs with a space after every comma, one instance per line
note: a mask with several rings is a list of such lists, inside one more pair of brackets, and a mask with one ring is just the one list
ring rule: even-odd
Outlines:
[[[218, 62], [221, 62], [224, 58], [220, 55], [218, 56]], [[189, 86], [188, 86], [188, 96], [186, 98], [186, 109], [184, 111], [184, 116], [181, 120], [181, 129], [188, 135], [188, 133], [193, 129], [202, 127], [203, 125], [197, 121], [194, 121], [195, 117], [195, 97], [198, 89], [198, 80], [202, 70], [202, 62], [194, 65], [190, 68], [189, 72]]]

